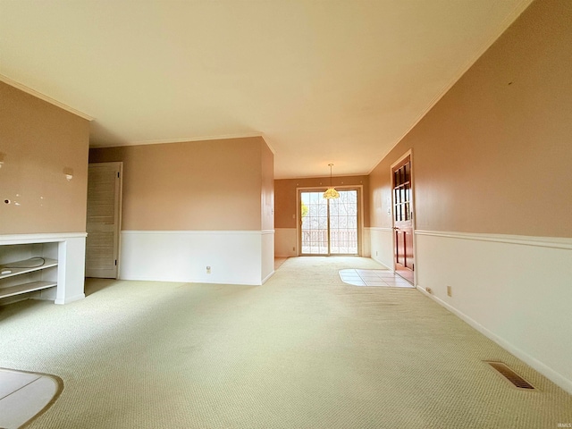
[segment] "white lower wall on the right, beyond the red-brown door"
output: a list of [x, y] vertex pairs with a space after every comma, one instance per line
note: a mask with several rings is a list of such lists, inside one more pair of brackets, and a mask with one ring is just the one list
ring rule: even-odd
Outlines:
[[572, 393], [572, 239], [415, 234], [417, 289]]

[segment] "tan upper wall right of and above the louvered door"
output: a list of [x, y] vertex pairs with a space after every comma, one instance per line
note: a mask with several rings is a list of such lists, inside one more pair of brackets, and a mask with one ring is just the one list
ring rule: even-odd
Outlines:
[[220, 139], [91, 149], [89, 162], [123, 162], [122, 230], [260, 231], [268, 152], [260, 137]]

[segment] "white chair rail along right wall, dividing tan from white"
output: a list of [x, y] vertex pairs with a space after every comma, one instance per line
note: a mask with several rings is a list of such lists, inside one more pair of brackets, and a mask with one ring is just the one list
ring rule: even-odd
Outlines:
[[539, 248], [563, 248], [572, 250], [572, 238], [563, 237], [535, 237], [527, 235], [486, 234], [477, 232], [450, 232], [415, 230], [415, 235], [431, 237], [445, 237], [459, 240], [493, 241], [497, 243], [519, 244]]

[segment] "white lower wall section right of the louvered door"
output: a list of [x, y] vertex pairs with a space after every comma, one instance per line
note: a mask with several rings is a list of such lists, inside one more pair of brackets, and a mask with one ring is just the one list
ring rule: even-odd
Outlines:
[[271, 241], [272, 231], [122, 231], [119, 277], [260, 285], [272, 275]]

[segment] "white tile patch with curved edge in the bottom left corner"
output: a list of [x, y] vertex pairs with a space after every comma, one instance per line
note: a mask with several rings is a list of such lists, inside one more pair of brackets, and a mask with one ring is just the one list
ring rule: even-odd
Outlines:
[[50, 408], [63, 390], [60, 377], [0, 368], [0, 428], [21, 427]]

